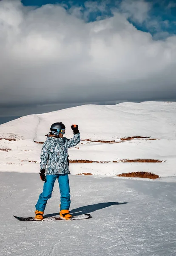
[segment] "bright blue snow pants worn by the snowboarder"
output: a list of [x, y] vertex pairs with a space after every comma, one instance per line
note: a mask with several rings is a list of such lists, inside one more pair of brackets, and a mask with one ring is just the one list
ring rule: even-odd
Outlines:
[[54, 182], [56, 179], [59, 182], [60, 188], [60, 210], [68, 210], [70, 207], [70, 186], [68, 180], [68, 174], [58, 174], [58, 175], [46, 175], [46, 180], [43, 185], [43, 192], [39, 195], [37, 204], [35, 205], [36, 210], [44, 212], [46, 203], [54, 187]]

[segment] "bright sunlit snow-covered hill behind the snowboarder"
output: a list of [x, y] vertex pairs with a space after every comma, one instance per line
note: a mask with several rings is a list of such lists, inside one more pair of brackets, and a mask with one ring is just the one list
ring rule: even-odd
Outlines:
[[71, 124], [79, 125], [81, 142], [69, 150], [71, 174], [176, 174], [176, 102], [83, 105], [5, 123], [0, 125], [0, 171], [39, 172], [42, 143], [54, 122], [65, 124], [68, 138]]

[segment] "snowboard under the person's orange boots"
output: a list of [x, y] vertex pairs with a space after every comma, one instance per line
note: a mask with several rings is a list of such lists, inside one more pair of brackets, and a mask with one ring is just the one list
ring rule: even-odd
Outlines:
[[[18, 217], [18, 216], [14, 216], [14, 217], [17, 218], [17, 220], [19, 220], [19, 221], [38, 221], [38, 220], [34, 219], [34, 217]], [[42, 221], [75, 221], [75, 220], [85, 220], [88, 218], [92, 218], [92, 216], [90, 214], [83, 214], [83, 215], [78, 215], [78, 216], [72, 216], [72, 218], [70, 218], [69, 220], [65, 220], [60, 217], [45, 217], [45, 216], [43, 216]]]

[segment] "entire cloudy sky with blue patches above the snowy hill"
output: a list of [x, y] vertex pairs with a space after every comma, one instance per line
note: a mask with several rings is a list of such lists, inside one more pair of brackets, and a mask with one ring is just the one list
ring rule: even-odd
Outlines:
[[0, 118], [176, 101], [176, 2], [0, 0], [0, 56]]

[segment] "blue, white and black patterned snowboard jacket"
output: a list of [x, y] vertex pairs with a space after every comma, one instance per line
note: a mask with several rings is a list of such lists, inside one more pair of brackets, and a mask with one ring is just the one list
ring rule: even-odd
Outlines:
[[68, 174], [68, 148], [80, 142], [80, 134], [74, 134], [73, 138], [67, 139], [47, 137], [40, 156], [40, 170], [46, 169], [47, 175]]

